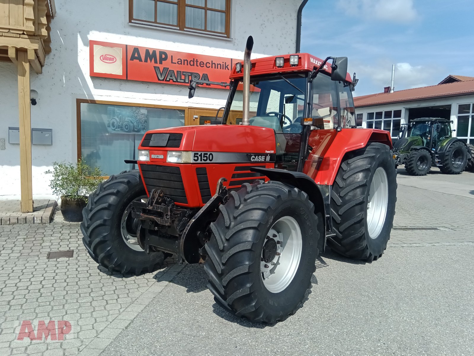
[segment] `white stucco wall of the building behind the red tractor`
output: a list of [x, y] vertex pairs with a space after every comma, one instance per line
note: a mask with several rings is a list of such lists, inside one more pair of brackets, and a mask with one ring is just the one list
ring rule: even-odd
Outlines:
[[[54, 161], [77, 157], [76, 99], [219, 108], [228, 91], [200, 88], [188, 99], [186, 86], [91, 78], [89, 40], [175, 50], [210, 56], [242, 58], [249, 35], [253, 58], [293, 53], [296, 15], [301, 0], [232, 0], [230, 38], [189, 34], [128, 23], [128, 1], [56, 0], [51, 23], [52, 53], [43, 74], [31, 74], [31, 89], [39, 93], [31, 106], [33, 128], [53, 129], [52, 146], [32, 146], [33, 197], [52, 197], [49, 175]], [[33, 72], [33, 71], [32, 71]], [[0, 62], [0, 198], [19, 198], [19, 145], [8, 143], [8, 128], [18, 127], [16, 67]]]

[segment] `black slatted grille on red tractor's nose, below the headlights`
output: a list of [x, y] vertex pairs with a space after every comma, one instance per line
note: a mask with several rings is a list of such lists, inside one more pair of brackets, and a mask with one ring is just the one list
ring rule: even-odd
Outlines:
[[148, 194], [153, 189], [162, 189], [175, 203], [188, 204], [179, 167], [141, 164], [140, 168]]

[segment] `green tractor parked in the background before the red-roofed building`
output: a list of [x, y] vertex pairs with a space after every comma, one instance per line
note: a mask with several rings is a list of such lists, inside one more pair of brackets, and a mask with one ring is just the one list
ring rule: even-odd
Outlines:
[[431, 166], [445, 174], [462, 173], [473, 159], [471, 145], [452, 137], [450, 123], [424, 117], [404, 125], [400, 139], [393, 144], [396, 165], [404, 164], [412, 176], [425, 176]]

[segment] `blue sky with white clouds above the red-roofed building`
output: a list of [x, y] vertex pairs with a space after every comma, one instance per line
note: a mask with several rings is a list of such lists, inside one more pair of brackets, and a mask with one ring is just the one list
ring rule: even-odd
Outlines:
[[474, 76], [473, 0], [310, 0], [301, 52], [347, 56], [357, 73], [354, 96]]

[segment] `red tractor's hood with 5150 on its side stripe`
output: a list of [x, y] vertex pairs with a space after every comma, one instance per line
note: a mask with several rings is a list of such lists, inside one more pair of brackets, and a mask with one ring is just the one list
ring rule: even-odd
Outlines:
[[182, 163], [274, 161], [275, 131], [243, 125], [172, 127], [146, 132], [138, 150], [148, 150], [150, 161], [156, 163], [172, 162], [167, 160], [168, 151], [182, 151]]

